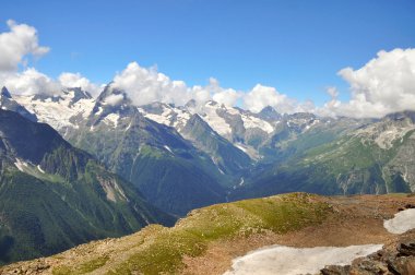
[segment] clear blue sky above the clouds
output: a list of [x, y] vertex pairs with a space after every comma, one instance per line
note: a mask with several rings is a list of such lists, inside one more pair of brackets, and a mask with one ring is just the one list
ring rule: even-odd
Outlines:
[[35, 67], [54, 77], [106, 83], [137, 61], [188, 85], [261, 83], [319, 105], [328, 86], [347, 97], [339, 70], [414, 47], [414, 14], [413, 0], [13, 0], [0, 3], [0, 32], [9, 19], [36, 27], [51, 50]]

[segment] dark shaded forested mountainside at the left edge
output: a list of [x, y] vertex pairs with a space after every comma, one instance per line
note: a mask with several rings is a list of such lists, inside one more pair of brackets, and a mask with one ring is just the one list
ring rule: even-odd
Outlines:
[[174, 218], [51, 127], [0, 110], [0, 263]]

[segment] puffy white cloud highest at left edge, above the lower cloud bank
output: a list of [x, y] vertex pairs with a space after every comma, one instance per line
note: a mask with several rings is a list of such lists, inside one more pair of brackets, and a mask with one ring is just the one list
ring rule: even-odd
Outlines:
[[0, 72], [16, 71], [24, 57], [40, 57], [49, 51], [48, 47], [38, 45], [36, 28], [26, 24], [7, 22], [10, 32], [0, 34]]

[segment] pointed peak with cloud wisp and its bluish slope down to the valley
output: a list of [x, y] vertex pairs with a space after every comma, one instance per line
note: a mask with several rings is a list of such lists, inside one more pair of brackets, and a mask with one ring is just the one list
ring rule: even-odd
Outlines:
[[[124, 96], [116, 105], [110, 96]], [[146, 119], [127, 96], [106, 87], [86, 120], [66, 138], [132, 182], [154, 205], [175, 215], [224, 202], [220, 170], [174, 128]]]

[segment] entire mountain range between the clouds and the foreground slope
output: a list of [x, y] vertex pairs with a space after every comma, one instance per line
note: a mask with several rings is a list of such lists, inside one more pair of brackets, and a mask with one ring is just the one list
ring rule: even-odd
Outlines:
[[111, 84], [96, 98], [3, 87], [0, 105], [2, 262], [240, 199], [415, 190], [413, 111], [352, 119], [212, 100], [135, 106]]

